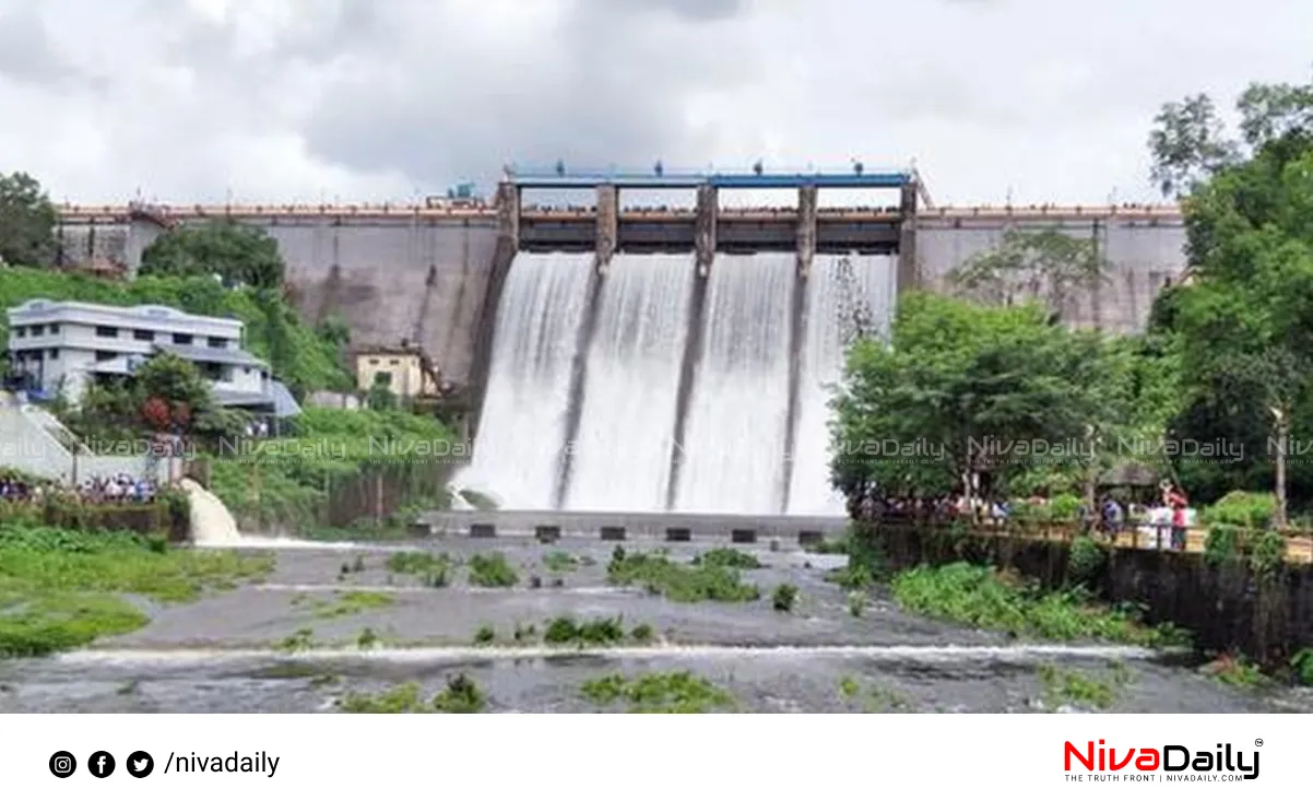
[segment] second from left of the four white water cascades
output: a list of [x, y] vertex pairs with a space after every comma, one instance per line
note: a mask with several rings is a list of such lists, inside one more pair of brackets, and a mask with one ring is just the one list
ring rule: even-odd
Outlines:
[[662, 511], [693, 254], [616, 255], [587, 347], [566, 510]]

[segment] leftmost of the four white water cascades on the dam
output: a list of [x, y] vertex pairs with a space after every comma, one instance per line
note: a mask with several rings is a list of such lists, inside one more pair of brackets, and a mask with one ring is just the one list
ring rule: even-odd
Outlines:
[[502, 507], [555, 507], [571, 368], [592, 281], [592, 254], [516, 255], [498, 305], [482, 428], [460, 487]]

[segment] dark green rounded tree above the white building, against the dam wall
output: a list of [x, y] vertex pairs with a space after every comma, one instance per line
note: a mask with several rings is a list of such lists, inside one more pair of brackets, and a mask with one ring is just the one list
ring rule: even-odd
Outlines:
[[236, 221], [210, 221], [165, 231], [142, 252], [146, 276], [218, 276], [236, 284], [280, 289], [285, 267], [278, 242], [263, 229]]

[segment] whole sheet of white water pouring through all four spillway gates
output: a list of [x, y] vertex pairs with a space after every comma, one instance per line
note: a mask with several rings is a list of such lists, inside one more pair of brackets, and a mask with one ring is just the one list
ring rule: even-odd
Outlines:
[[894, 263], [520, 252], [460, 486], [507, 510], [842, 515], [829, 398], [853, 313], [888, 331]]

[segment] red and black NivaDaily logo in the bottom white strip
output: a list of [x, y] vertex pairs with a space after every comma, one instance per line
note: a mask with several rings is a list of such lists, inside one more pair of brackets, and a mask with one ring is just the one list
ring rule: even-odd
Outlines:
[[1263, 746], [1263, 740], [1255, 738], [1255, 749], [1247, 752], [1230, 744], [1216, 745], [1216, 752], [1191, 750], [1184, 745], [1119, 750], [1106, 744], [1102, 738], [1098, 746], [1092, 741], [1066, 742], [1062, 763], [1067, 780], [1082, 780], [1082, 769], [1091, 773], [1094, 780], [1253, 780], [1258, 778], [1257, 748]]

